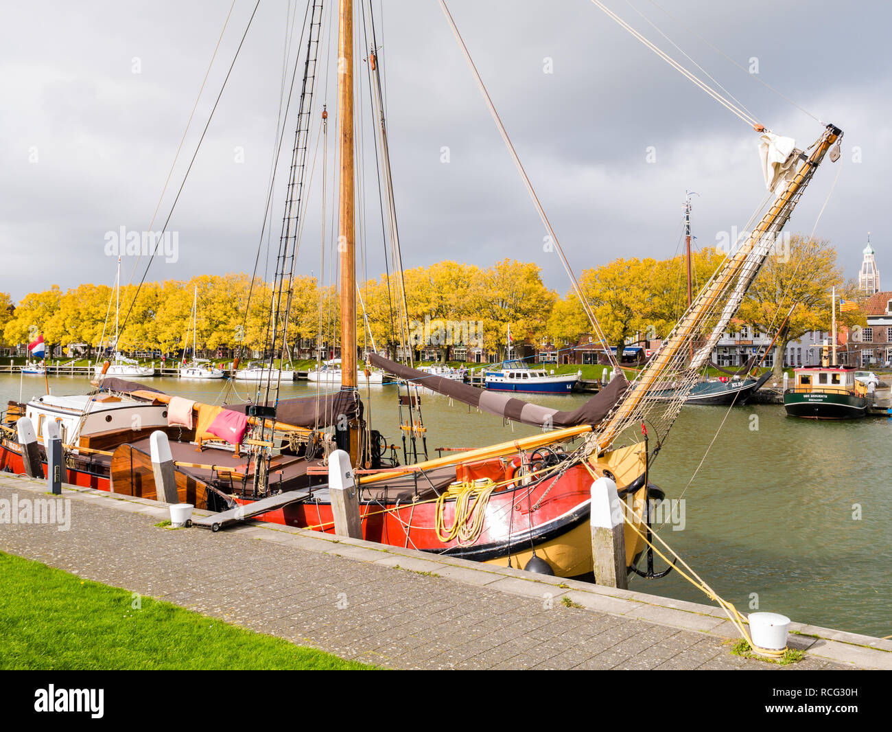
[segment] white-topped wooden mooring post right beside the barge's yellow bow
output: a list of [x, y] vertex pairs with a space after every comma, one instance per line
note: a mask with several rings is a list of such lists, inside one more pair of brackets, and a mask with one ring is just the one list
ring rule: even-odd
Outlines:
[[598, 478], [591, 484], [591, 559], [597, 584], [620, 589], [629, 586], [623, 506], [610, 478]]

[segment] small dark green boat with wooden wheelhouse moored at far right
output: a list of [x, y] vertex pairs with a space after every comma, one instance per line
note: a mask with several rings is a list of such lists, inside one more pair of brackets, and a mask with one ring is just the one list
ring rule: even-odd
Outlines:
[[855, 368], [805, 366], [793, 370], [793, 386], [783, 393], [791, 417], [852, 420], [863, 417], [869, 404], [867, 387], [855, 379]]

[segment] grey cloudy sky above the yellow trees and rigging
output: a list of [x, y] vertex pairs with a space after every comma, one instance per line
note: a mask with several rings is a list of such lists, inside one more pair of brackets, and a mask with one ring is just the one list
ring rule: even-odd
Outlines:
[[[810, 233], [827, 201], [816, 233], [837, 246], [847, 276], [855, 275], [871, 231], [880, 274], [892, 286], [892, 54], [886, 50], [892, 12], [884, 4], [605, 2], [702, 76], [665, 33], [767, 127], [800, 146], [811, 144], [822, 124], [759, 79], [844, 129], [840, 161], [824, 163], [788, 230]], [[170, 210], [254, 4], [235, 0], [153, 229]], [[373, 4], [404, 266], [448, 258], [485, 267], [512, 257], [541, 264], [549, 287], [566, 292], [557, 254], [542, 250], [545, 232], [439, 4]], [[756, 132], [588, 0], [449, 5], [575, 270], [617, 256], [675, 254], [686, 190], [698, 193], [693, 228], [700, 247], [742, 228], [762, 200]], [[149, 229], [229, 6], [230, 0], [4, 5], [0, 291], [18, 300], [53, 284], [113, 281], [108, 232]], [[260, 3], [170, 220], [177, 261], [156, 258], [148, 279], [252, 270], [285, 51], [290, 68], [305, 8], [303, 2]], [[329, 53], [319, 63], [317, 104], [329, 104], [334, 122], [334, 67], [326, 62], [335, 54], [332, 26], [326, 23], [322, 38]], [[366, 46], [360, 21], [357, 33]], [[747, 69], [755, 63], [757, 77], [701, 37]], [[365, 79], [363, 62], [359, 71]], [[365, 87], [359, 104], [365, 110], [359, 136], [370, 151]], [[291, 113], [280, 161], [285, 174], [294, 124]], [[335, 146], [334, 124], [329, 146]], [[443, 148], [449, 162], [442, 162]], [[650, 148], [655, 162], [648, 162]], [[334, 171], [322, 158], [320, 151], [297, 266], [317, 276], [321, 182], [323, 175], [331, 181]], [[366, 270], [377, 276], [384, 271], [381, 220], [374, 159], [365, 160]], [[274, 245], [285, 190], [282, 175], [278, 180]], [[329, 214], [331, 204], [329, 190]], [[261, 262], [265, 256], [264, 250]], [[134, 271], [141, 276], [145, 260], [135, 264], [134, 257], [124, 258], [124, 281]]]

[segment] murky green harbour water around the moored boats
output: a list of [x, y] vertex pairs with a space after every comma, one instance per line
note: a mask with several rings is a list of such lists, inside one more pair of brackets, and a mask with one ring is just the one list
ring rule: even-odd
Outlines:
[[[89, 387], [87, 378], [79, 377], [50, 378], [49, 383], [60, 395], [84, 393]], [[147, 378], [143, 383], [209, 403], [222, 398], [220, 382]], [[242, 398], [228, 401], [244, 401], [254, 388], [235, 382]], [[282, 396], [315, 389], [308, 382], [288, 383]], [[25, 400], [42, 395], [44, 379], [0, 375], [4, 404], [19, 399], [20, 390]], [[373, 426], [389, 442], [400, 443], [395, 388], [361, 391]], [[542, 395], [536, 401], [570, 409], [586, 398]], [[430, 392], [423, 392], [421, 409], [432, 457], [436, 447], [491, 445], [536, 432], [503, 425], [499, 418], [469, 412], [467, 406]], [[726, 407], [685, 407], [651, 473], [667, 499], [683, 501], [673, 505], [660, 536], [740, 611], [776, 611], [800, 622], [888, 636], [890, 437], [892, 420], [886, 419], [796, 420], [786, 417], [780, 405], [735, 407], [731, 412]], [[656, 569], [663, 567], [657, 559]], [[630, 588], [707, 602], [675, 572], [659, 580], [632, 578]]]

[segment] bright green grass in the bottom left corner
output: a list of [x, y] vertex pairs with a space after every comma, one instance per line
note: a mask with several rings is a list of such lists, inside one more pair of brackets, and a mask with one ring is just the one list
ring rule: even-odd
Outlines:
[[0, 575], [0, 669], [373, 668], [10, 554]]

